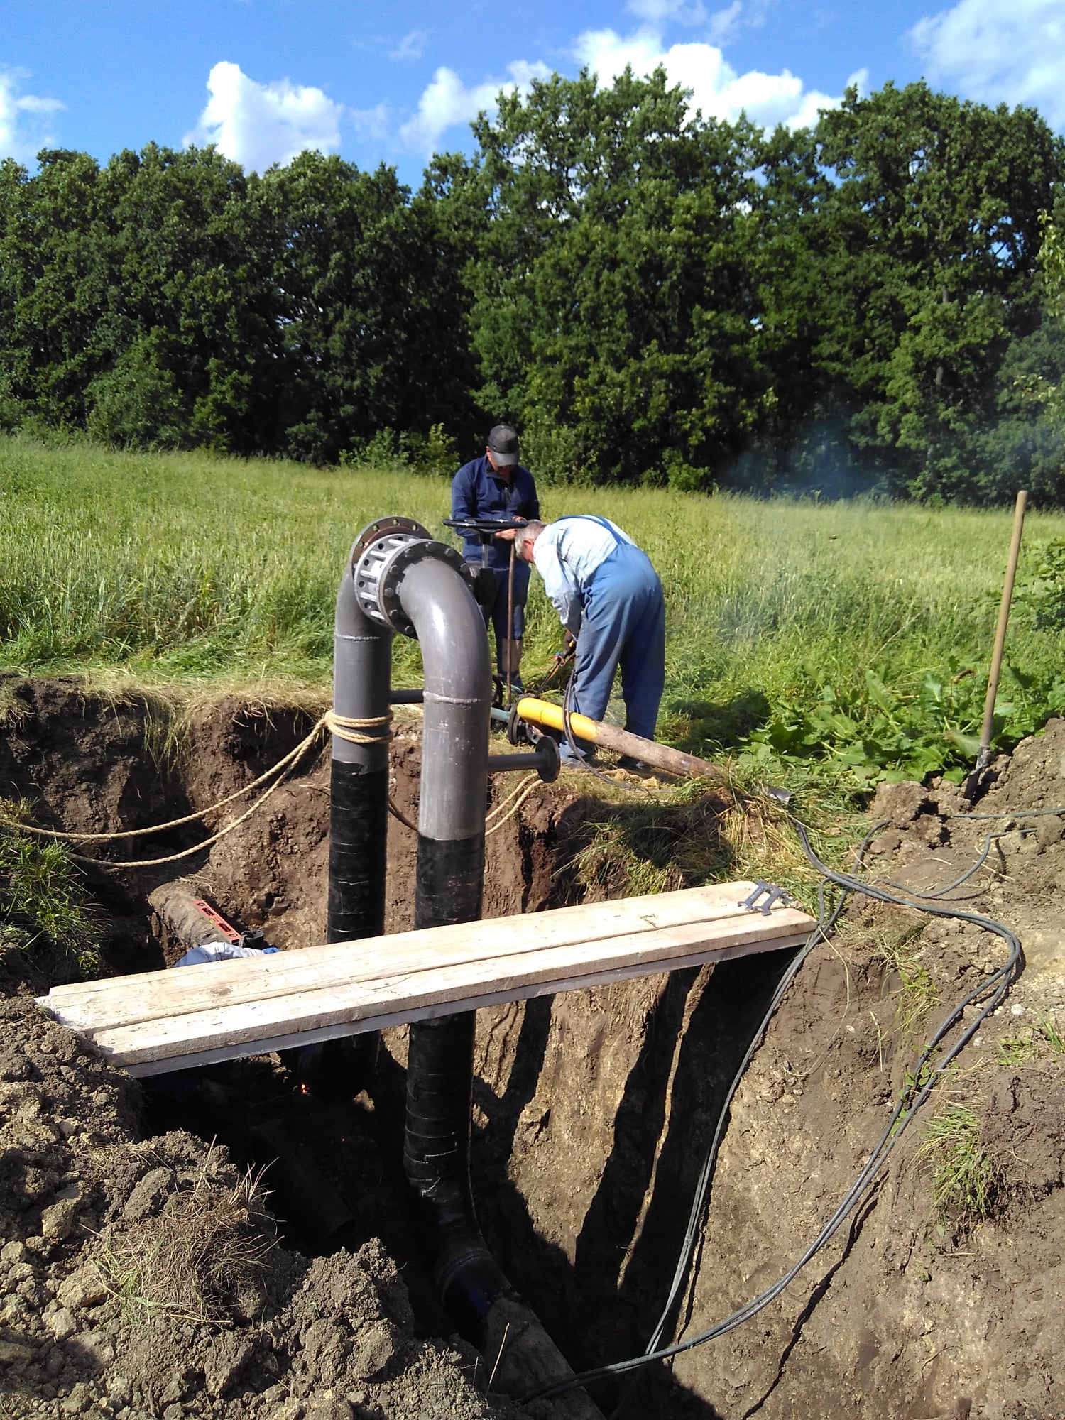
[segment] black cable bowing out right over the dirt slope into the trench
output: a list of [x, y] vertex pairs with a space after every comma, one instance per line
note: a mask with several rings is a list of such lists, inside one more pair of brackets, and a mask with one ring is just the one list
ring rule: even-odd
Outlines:
[[[611, 1376], [625, 1375], [630, 1370], [638, 1370], [642, 1366], [649, 1365], [652, 1360], [667, 1360], [670, 1356], [679, 1356], [682, 1352], [693, 1350], [696, 1346], [701, 1346], [717, 1336], [724, 1336], [727, 1332], [734, 1331], [744, 1322], [750, 1321], [760, 1311], [763, 1311], [771, 1301], [774, 1301], [780, 1294], [795, 1279], [795, 1277], [802, 1271], [807, 1262], [814, 1258], [821, 1248], [828, 1242], [834, 1234], [839, 1230], [842, 1223], [848, 1216], [858, 1207], [862, 1198], [869, 1193], [873, 1183], [876, 1181], [880, 1170], [883, 1169], [888, 1156], [902, 1137], [906, 1126], [913, 1119], [914, 1113], [920, 1109], [924, 1100], [929, 1098], [934, 1086], [946, 1074], [951, 1061], [968, 1045], [976, 1032], [980, 1030], [984, 1020], [997, 1010], [1005, 1000], [1014, 976], [1021, 967], [1021, 941], [1014, 932], [1010, 930], [1004, 923], [995, 922], [993, 917], [984, 917], [978, 913], [961, 912], [957, 907], [940, 907], [927, 902], [914, 902], [899, 893], [889, 892], [883, 888], [878, 888], [875, 883], [862, 882], [849, 873], [839, 873], [835, 869], [824, 863], [809, 845], [809, 838], [807, 835], [805, 826], [798, 819], [791, 819], [795, 832], [798, 834], [802, 852], [807, 861], [821, 873], [822, 879], [828, 883], [835, 883], [835, 886], [843, 889], [845, 895], [862, 893], [863, 896], [872, 897], [876, 902], [886, 902], [895, 906], [913, 907], [917, 912], [924, 912], [933, 917], [947, 917], [957, 922], [968, 922], [985, 932], [991, 932], [1001, 937], [1008, 950], [1008, 957], [1005, 963], [998, 967], [990, 977], [984, 978], [976, 990], [970, 991], [943, 1020], [940, 1027], [933, 1034], [932, 1039], [927, 1042], [924, 1049], [917, 1058], [914, 1069], [907, 1076], [907, 1085], [903, 1089], [899, 1100], [892, 1110], [892, 1118], [888, 1120], [880, 1139], [872, 1149], [865, 1167], [859, 1173], [855, 1183], [843, 1196], [842, 1201], [836, 1207], [832, 1217], [822, 1227], [821, 1233], [811, 1242], [802, 1257], [782, 1275], [772, 1287], [767, 1288], [758, 1296], [753, 1298], [744, 1306], [731, 1312], [723, 1321], [706, 1331], [699, 1332], [694, 1336], [689, 1336], [686, 1340], [673, 1342], [670, 1346], [659, 1346], [655, 1350], [649, 1350], [642, 1356], [633, 1356], [628, 1360], [612, 1362], [606, 1366], [599, 1366], [594, 1370], [581, 1372], [568, 1380], [557, 1382], [552, 1386], [545, 1386], [531, 1396], [525, 1396], [525, 1403], [531, 1400], [544, 1400], [551, 1396], [564, 1394], [568, 1390], [574, 1390], [578, 1386], [591, 1384], [595, 1380], [605, 1380]], [[943, 1048], [943, 1042], [950, 1031], [958, 1024], [964, 1022], [966, 1010], [977, 1001], [983, 1001], [981, 1008], [958, 1034], [958, 1037], [949, 1047]], [[940, 1054], [941, 1051], [941, 1054]], [[934, 1064], [933, 1064], [934, 1061]]]

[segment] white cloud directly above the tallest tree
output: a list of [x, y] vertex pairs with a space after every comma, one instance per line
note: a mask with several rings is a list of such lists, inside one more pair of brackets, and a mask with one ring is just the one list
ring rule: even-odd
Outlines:
[[[808, 89], [790, 70], [737, 74], [716, 44], [673, 44], [666, 48], [660, 31], [650, 26], [626, 38], [615, 30], [586, 30], [577, 41], [575, 54], [581, 64], [599, 75], [601, 84], [609, 84], [626, 65], [639, 75], [662, 67], [670, 84], [692, 91], [693, 106], [707, 118], [736, 119], [746, 112], [751, 122], [764, 128], [777, 124], [799, 128], [815, 122], [818, 109], [839, 104], [838, 97]], [[853, 75], [852, 81], [861, 81], [861, 77]]]

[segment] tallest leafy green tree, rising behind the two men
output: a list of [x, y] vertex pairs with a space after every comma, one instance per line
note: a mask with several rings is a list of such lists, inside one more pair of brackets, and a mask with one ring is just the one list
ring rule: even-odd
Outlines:
[[710, 483], [767, 402], [754, 129], [692, 114], [662, 71], [582, 72], [501, 95], [474, 135], [433, 176], [473, 234], [480, 403], [555, 477]]

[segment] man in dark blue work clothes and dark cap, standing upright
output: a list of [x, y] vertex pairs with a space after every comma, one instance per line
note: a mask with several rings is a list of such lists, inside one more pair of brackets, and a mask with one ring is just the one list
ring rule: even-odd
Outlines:
[[[453, 518], [538, 518], [540, 500], [532, 474], [518, 463], [518, 435], [510, 425], [496, 425], [481, 459], [464, 463], [452, 479]], [[466, 537], [463, 557], [481, 565], [481, 544]], [[496, 540], [488, 550], [488, 567], [496, 574], [496, 604], [491, 625], [496, 632], [496, 656], [500, 676], [507, 676], [510, 650], [510, 680], [521, 690], [521, 638], [525, 630], [525, 601], [528, 599], [528, 567], [514, 562], [514, 616], [507, 625], [510, 547]]]

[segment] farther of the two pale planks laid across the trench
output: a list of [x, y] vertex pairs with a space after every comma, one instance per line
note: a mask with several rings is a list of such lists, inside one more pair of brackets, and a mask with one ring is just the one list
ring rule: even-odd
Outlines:
[[[61, 1014], [75, 1030], [102, 1028], [108, 1022], [132, 1025], [175, 1011], [193, 1012], [223, 1004], [258, 1003], [275, 995], [327, 990], [351, 981], [372, 983], [398, 973], [437, 970], [462, 961], [504, 961], [524, 951], [606, 941], [633, 933], [653, 934], [665, 927], [714, 923], [734, 916], [754, 916], [774, 923], [792, 920], [794, 909], [777, 907], [765, 917], [740, 907], [753, 883], [717, 883], [673, 893], [655, 893], [616, 902], [584, 903], [517, 917], [496, 917], [453, 927], [429, 927], [358, 941], [338, 941], [281, 951], [247, 960], [203, 963], [180, 973], [146, 971], [102, 981], [54, 987], [48, 1010]], [[799, 913], [794, 920], [808, 922]], [[809, 929], [807, 929], [809, 930]]]

